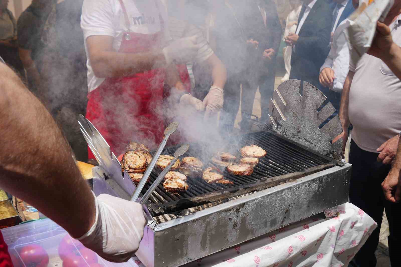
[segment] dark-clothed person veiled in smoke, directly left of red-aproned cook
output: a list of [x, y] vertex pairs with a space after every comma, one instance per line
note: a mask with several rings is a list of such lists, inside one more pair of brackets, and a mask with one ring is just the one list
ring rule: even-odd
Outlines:
[[41, 33], [41, 90], [45, 105], [61, 125], [77, 160], [86, 162], [87, 144], [77, 115], [86, 113], [87, 68], [81, 8], [83, 0], [59, 0], [51, 4]]

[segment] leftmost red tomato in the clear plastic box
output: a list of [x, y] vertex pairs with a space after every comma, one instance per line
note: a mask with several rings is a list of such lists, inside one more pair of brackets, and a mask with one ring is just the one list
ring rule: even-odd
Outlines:
[[20, 250], [20, 257], [25, 266], [46, 267], [49, 264], [49, 255], [40, 245], [26, 245]]

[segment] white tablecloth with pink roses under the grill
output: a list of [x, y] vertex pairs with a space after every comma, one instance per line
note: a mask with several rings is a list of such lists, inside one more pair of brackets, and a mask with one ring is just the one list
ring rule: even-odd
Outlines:
[[310, 217], [182, 267], [348, 266], [377, 224], [353, 204], [338, 210], [336, 217]]

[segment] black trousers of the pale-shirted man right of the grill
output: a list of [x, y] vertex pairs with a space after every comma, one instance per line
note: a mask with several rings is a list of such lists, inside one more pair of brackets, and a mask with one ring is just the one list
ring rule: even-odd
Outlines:
[[391, 266], [400, 266], [401, 204], [388, 202], [384, 198], [381, 183], [389, 173], [391, 165], [377, 162], [378, 155], [362, 150], [354, 141], [351, 142], [349, 156], [349, 163], [352, 164], [350, 202], [365, 211], [378, 225], [352, 260], [350, 266], [354, 267], [376, 266], [375, 251], [379, 244], [383, 210], [386, 211], [389, 221], [390, 236], [388, 240]]

